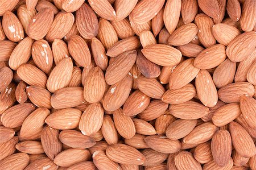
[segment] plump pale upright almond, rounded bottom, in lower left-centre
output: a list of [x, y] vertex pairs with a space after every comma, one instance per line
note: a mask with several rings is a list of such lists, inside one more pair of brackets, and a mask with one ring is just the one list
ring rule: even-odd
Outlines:
[[79, 129], [83, 135], [92, 135], [100, 130], [104, 118], [104, 110], [101, 103], [90, 104], [81, 116]]

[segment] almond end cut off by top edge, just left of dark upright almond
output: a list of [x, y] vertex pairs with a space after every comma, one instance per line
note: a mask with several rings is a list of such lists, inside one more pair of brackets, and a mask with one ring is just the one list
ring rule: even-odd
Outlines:
[[84, 1], [82, 0], [63, 0], [61, 3], [61, 8], [65, 10], [67, 13], [73, 13], [76, 10], [78, 10], [83, 3]]

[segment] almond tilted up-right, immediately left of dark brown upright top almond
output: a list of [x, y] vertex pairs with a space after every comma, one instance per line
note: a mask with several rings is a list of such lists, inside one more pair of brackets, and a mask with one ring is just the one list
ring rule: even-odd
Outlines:
[[60, 12], [58, 13], [52, 23], [51, 28], [46, 35], [46, 39], [49, 42], [53, 42], [54, 39], [62, 39], [68, 31], [71, 30], [75, 17], [71, 13]]

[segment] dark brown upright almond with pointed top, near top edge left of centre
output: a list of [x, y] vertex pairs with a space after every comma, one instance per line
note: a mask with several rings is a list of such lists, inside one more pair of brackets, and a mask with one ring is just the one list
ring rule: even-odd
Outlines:
[[98, 34], [97, 16], [86, 3], [83, 3], [76, 11], [76, 26], [84, 39], [92, 39]]

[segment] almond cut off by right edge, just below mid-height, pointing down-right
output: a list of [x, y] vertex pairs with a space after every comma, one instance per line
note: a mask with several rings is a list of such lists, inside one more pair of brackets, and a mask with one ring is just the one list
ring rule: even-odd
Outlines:
[[240, 99], [240, 109], [245, 121], [251, 127], [256, 127], [256, 100], [253, 97], [242, 96]]

